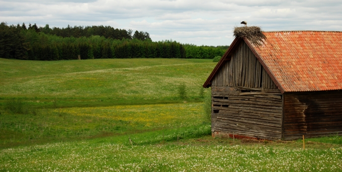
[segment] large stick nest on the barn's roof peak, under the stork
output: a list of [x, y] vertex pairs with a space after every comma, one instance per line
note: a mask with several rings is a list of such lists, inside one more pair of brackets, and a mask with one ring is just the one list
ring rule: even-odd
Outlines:
[[235, 27], [234, 36], [235, 38], [245, 37], [255, 46], [263, 45], [266, 40], [266, 36], [258, 26]]

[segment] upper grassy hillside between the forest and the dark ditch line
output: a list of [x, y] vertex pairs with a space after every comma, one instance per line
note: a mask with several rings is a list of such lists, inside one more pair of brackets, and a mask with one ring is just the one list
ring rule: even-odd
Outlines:
[[181, 83], [196, 97], [214, 65], [199, 59], [0, 59], [0, 98], [170, 100]]

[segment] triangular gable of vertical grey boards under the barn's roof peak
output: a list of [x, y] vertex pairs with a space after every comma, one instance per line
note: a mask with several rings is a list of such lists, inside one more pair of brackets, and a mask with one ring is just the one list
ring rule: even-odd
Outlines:
[[244, 41], [232, 54], [231, 60], [216, 73], [212, 85], [277, 89], [277, 85]]

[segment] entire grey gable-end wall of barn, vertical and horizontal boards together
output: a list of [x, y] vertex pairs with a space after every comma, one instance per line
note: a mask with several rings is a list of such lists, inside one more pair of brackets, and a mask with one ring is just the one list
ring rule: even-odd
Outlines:
[[212, 132], [282, 138], [282, 94], [242, 41], [212, 79]]

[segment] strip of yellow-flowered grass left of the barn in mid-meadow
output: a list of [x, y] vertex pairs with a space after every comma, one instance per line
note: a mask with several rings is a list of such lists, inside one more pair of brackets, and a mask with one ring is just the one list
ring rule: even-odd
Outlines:
[[202, 103], [67, 108], [63, 113], [109, 121], [122, 120], [131, 125], [142, 124], [145, 127], [187, 126], [204, 120]]

